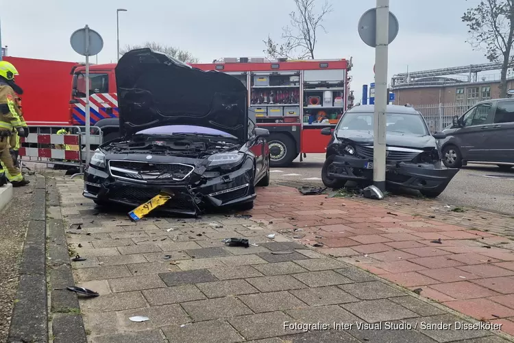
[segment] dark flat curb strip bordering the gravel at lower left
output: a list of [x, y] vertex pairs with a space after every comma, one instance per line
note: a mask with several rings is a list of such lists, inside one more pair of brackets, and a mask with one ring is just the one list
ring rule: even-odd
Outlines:
[[8, 342], [48, 342], [45, 200], [45, 176], [36, 175]]

